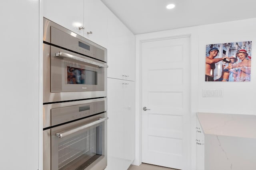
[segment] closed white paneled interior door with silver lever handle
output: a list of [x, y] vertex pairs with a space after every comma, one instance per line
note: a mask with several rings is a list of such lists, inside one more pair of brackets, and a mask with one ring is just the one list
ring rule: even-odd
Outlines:
[[190, 37], [142, 42], [142, 162], [188, 168], [190, 82]]

